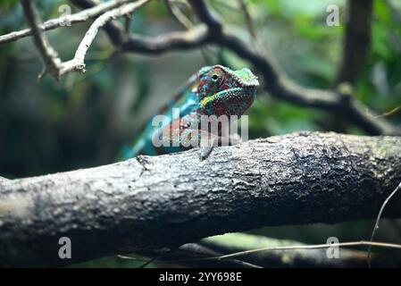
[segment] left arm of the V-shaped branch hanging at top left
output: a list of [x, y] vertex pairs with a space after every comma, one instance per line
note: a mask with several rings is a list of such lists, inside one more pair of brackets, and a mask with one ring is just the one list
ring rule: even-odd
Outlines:
[[21, 4], [30, 29], [32, 30], [35, 46], [43, 61], [43, 71], [40, 72], [38, 80], [42, 80], [46, 73], [51, 74], [54, 79], [59, 80], [62, 61], [57, 55], [57, 52], [54, 51], [54, 48], [48, 43], [42, 30], [38, 28], [39, 21], [36, 7], [30, 0], [21, 0]]

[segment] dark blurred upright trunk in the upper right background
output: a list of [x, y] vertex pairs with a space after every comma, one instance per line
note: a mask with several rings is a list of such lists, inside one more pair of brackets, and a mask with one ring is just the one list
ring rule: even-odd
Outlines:
[[365, 63], [372, 32], [372, 0], [348, 0], [344, 51], [336, 83], [354, 83]]

